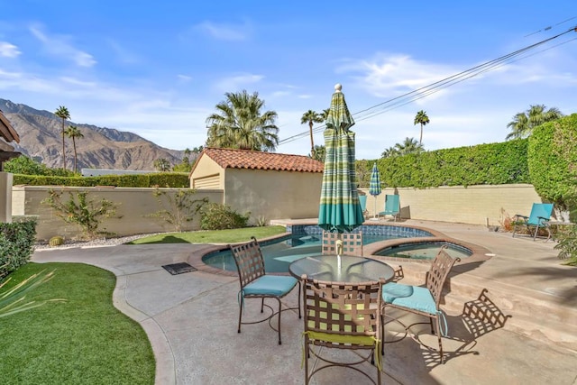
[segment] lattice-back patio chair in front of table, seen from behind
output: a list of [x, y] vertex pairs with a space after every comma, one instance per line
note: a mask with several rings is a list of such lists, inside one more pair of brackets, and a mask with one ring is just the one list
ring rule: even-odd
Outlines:
[[[338, 366], [358, 371], [373, 384], [380, 384], [380, 302], [384, 280], [327, 282], [303, 275], [302, 282], [305, 384], [316, 372]], [[356, 354], [338, 359], [325, 349]], [[316, 364], [309, 367], [311, 355]], [[362, 371], [360, 365], [365, 362], [374, 364], [377, 380]]]

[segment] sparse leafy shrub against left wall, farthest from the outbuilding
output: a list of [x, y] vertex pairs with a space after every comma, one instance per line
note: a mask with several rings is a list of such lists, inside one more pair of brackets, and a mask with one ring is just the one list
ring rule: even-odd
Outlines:
[[111, 218], [116, 215], [116, 205], [108, 199], [102, 198], [99, 202], [88, 199], [88, 192], [69, 191], [69, 200], [62, 201], [63, 192], [57, 192], [50, 188], [49, 197], [43, 199], [41, 203], [52, 207], [56, 215], [62, 218], [67, 224], [76, 224], [82, 229], [82, 234], [87, 239], [95, 239], [99, 232], [98, 226], [103, 218]]

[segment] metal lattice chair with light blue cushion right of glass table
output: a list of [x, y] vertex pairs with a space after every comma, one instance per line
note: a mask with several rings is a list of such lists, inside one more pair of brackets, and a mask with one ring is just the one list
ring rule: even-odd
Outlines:
[[[442, 335], [447, 332], [446, 321], [444, 313], [439, 308], [441, 301], [441, 291], [443, 290], [444, 282], [447, 279], [449, 272], [453, 269], [453, 264], [460, 261], [459, 258], [453, 259], [447, 252], [444, 251], [446, 246], [436, 254], [435, 259], [431, 263], [431, 268], [426, 274], [426, 285], [410, 286], [401, 283], [390, 282], [382, 288], [382, 313], [381, 321], [384, 323], [386, 310], [388, 307], [407, 311], [409, 313], [417, 314], [419, 316], [426, 316], [429, 318], [431, 325], [431, 333], [437, 335], [439, 344], [439, 355], [441, 363], [444, 363], [443, 357], [443, 341]], [[423, 324], [418, 322], [411, 325], [404, 325], [398, 319], [395, 319], [400, 325], [405, 327], [405, 331], [409, 333], [409, 329], [413, 325]], [[435, 328], [433, 321], [435, 320]], [[444, 321], [444, 331], [441, 328], [441, 321]], [[436, 329], [436, 331], [435, 331]], [[418, 337], [416, 338], [418, 341]], [[384, 354], [384, 348], [381, 353]]]

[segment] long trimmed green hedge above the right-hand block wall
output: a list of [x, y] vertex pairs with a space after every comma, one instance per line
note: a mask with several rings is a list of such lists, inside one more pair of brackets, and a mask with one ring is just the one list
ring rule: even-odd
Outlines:
[[[436, 188], [530, 183], [527, 139], [426, 151], [376, 160], [380, 180], [387, 188]], [[371, 168], [373, 161], [366, 161]], [[357, 172], [357, 174], [359, 174]], [[363, 173], [368, 187], [371, 170]]]

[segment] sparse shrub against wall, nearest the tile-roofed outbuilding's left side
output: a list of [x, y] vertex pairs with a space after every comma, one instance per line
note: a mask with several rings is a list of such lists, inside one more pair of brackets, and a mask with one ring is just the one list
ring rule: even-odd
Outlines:
[[169, 225], [174, 226], [175, 232], [180, 233], [183, 226], [193, 221], [202, 206], [208, 202], [207, 197], [194, 199], [195, 194], [197, 194], [195, 189], [179, 188], [176, 194], [170, 194], [167, 190], [155, 188], [152, 195], [161, 208], [156, 213], [147, 216], [163, 219]]

